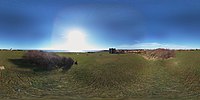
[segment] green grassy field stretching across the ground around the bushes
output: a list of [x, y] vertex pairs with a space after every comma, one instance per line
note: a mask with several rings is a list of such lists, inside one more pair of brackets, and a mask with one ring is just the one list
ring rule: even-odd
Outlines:
[[0, 99], [200, 99], [200, 51], [168, 60], [137, 54], [58, 53], [78, 61], [66, 72], [34, 71], [22, 51], [0, 51]]

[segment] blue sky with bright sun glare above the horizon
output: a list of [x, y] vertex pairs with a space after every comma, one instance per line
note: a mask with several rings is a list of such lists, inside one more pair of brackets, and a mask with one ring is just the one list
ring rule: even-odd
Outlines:
[[0, 48], [200, 48], [199, 0], [0, 0]]

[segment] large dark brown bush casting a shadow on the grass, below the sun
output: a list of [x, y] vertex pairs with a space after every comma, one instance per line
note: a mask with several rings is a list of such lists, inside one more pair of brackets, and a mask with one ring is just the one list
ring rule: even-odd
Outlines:
[[25, 53], [24, 59], [31, 64], [36, 65], [37, 68], [45, 70], [53, 70], [58, 68], [67, 70], [70, 69], [74, 64], [74, 60], [70, 57], [60, 57], [54, 53], [46, 53], [37, 50], [31, 50]]

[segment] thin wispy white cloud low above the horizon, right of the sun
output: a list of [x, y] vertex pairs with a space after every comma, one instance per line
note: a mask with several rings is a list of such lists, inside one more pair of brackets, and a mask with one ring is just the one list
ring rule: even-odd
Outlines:
[[117, 48], [120, 49], [156, 49], [156, 48], [167, 48], [167, 49], [188, 49], [191, 47], [176, 44], [166, 43], [136, 43], [132, 45], [120, 45]]

